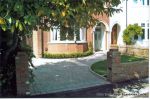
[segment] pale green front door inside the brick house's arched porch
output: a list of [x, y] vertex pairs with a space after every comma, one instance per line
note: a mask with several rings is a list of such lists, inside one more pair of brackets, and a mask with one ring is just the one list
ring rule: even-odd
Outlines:
[[97, 26], [94, 33], [95, 38], [95, 51], [100, 51], [102, 47], [102, 29]]

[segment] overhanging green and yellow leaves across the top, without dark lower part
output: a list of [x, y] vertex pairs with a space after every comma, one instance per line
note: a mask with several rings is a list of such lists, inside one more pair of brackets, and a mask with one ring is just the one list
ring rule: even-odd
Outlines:
[[112, 15], [120, 0], [1, 0], [0, 25], [3, 30], [30, 33], [33, 28], [63, 25], [87, 26], [95, 23], [93, 14]]

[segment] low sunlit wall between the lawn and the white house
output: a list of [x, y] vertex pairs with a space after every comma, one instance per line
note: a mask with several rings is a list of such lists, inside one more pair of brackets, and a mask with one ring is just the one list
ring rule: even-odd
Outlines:
[[139, 57], [149, 57], [149, 49], [148, 48], [143, 48], [143, 47], [138, 47], [138, 46], [132, 46], [132, 45], [127, 45], [127, 46], [119, 46], [119, 52], [122, 54], [129, 54], [129, 55], [135, 55]]

